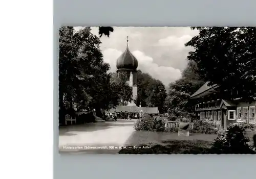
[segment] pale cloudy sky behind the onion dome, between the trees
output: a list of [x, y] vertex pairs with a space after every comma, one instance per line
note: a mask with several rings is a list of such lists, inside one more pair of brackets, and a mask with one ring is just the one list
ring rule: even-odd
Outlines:
[[[75, 27], [79, 30], [82, 27]], [[188, 52], [193, 47], [184, 44], [198, 31], [189, 27], [113, 27], [110, 37], [100, 38], [103, 60], [115, 72], [116, 60], [126, 48], [129, 36], [129, 49], [138, 60], [138, 68], [149, 73], [153, 78], [162, 81], [165, 86], [181, 78], [181, 72], [187, 65]], [[92, 33], [99, 37], [98, 27], [92, 28]]]

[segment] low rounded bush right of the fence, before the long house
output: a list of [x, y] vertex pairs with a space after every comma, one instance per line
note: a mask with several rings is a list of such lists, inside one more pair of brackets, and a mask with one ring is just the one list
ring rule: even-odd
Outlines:
[[205, 120], [198, 120], [194, 122], [193, 129], [190, 130], [190, 132], [200, 134], [217, 134], [218, 128], [214, 124], [208, 123]]

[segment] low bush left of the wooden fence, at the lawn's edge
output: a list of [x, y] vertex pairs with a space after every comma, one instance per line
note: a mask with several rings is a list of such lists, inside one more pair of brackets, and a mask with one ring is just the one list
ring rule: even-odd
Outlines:
[[156, 131], [164, 132], [165, 126], [164, 122], [160, 119], [147, 119], [147, 120], [137, 120], [134, 124], [134, 129], [136, 131]]

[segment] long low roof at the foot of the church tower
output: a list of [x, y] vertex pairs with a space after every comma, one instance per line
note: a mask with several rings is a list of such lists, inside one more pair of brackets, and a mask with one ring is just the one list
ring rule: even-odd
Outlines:
[[132, 112], [132, 113], [138, 113], [140, 110], [144, 111], [148, 114], [159, 114], [159, 110], [157, 107], [148, 108], [148, 107], [137, 107], [137, 106], [117, 106], [116, 108], [110, 109], [108, 112], [114, 113], [115, 111], [120, 113], [122, 112]]

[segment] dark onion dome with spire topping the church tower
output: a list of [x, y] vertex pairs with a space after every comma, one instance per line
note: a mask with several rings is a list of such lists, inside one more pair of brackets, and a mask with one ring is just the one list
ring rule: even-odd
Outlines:
[[128, 37], [127, 37], [127, 47], [124, 53], [117, 59], [116, 68], [118, 71], [129, 70], [134, 71], [138, 67], [138, 60], [130, 52], [128, 48]]

